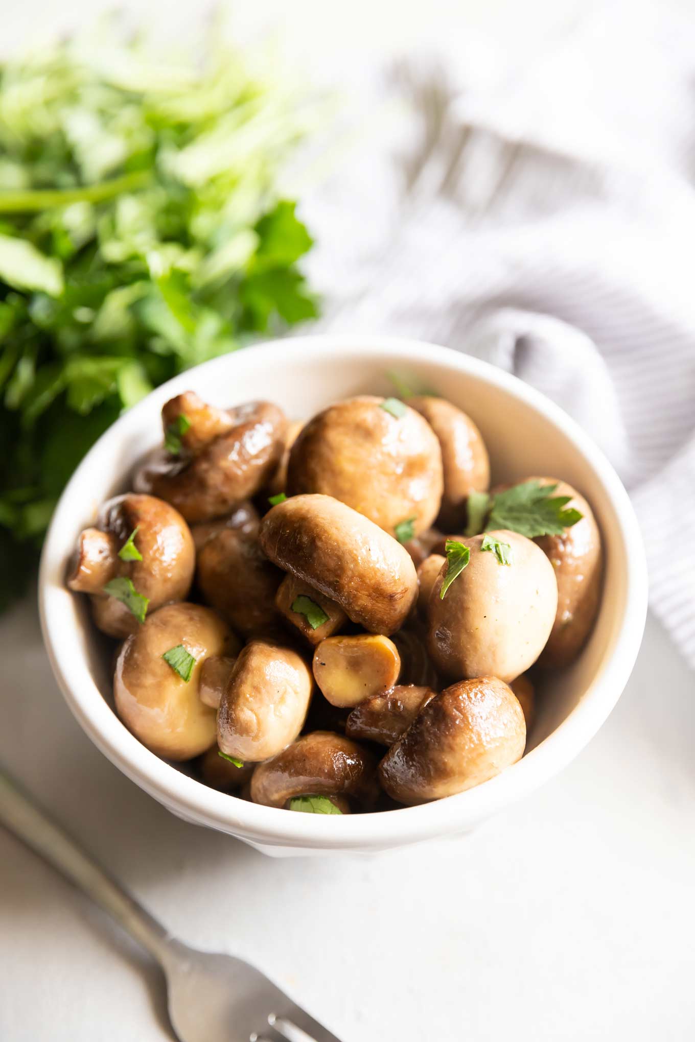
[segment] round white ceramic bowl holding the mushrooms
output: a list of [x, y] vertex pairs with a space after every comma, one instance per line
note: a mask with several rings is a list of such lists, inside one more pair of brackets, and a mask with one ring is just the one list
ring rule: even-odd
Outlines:
[[[422, 807], [345, 817], [290, 814], [208, 789], [141, 745], [114, 713], [108, 651], [91, 623], [86, 598], [64, 581], [77, 534], [93, 523], [104, 499], [124, 491], [134, 462], [160, 440], [159, 410], [174, 394], [192, 388], [218, 405], [266, 398], [302, 418], [354, 394], [393, 393], [389, 371], [433, 388], [470, 414], [490, 450], [495, 481], [552, 474], [588, 497], [605, 548], [605, 593], [594, 632], [570, 669], [548, 677], [523, 760], [476, 789]], [[44, 546], [40, 601], [53, 672], [95, 745], [174, 814], [279, 857], [375, 851], [456, 836], [547, 782], [596, 734], [625, 686], [642, 639], [647, 577], [635, 514], [615, 471], [547, 398], [514, 376], [431, 344], [307, 337], [199, 366], [115, 423], [57, 505]]]

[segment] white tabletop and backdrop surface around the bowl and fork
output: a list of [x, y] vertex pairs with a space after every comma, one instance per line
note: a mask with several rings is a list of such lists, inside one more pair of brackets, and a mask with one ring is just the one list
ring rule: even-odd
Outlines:
[[[15, 3], [2, 46], [100, 6]], [[273, 24], [321, 75], [366, 52], [463, 48], [471, 31], [519, 60], [578, 6], [235, 9], [242, 31]], [[147, 17], [175, 35], [198, 10], [157, 0]], [[652, 620], [617, 710], [559, 778], [471, 837], [374, 859], [272, 861], [179, 821], [72, 720], [31, 599], [0, 620], [0, 763], [174, 933], [250, 959], [344, 1042], [694, 1037], [694, 685]], [[147, 959], [0, 832], [0, 1040], [170, 1037]]]

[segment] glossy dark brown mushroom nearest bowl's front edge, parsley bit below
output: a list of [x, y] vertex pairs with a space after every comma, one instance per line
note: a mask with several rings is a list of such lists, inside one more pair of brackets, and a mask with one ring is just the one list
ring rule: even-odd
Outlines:
[[344, 796], [371, 805], [378, 797], [376, 761], [343, 735], [315, 730], [259, 764], [251, 778], [251, 799], [286, 807], [296, 796]]

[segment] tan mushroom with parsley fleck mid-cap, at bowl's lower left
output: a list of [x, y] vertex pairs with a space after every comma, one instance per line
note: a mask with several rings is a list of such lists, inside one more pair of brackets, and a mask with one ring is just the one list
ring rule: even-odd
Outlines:
[[200, 672], [208, 655], [233, 643], [215, 612], [185, 601], [148, 615], [126, 639], [114, 675], [116, 711], [143, 745], [191, 760], [215, 744], [216, 713], [200, 698]]

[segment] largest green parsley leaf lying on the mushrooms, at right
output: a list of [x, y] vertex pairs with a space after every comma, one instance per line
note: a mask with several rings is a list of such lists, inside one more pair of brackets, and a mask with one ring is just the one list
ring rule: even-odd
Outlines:
[[540, 481], [522, 481], [498, 492], [486, 530], [508, 528], [527, 539], [562, 536], [565, 528], [581, 520], [581, 514], [573, 507], [566, 508], [571, 496], [553, 496], [556, 488], [556, 485], [541, 485]]

